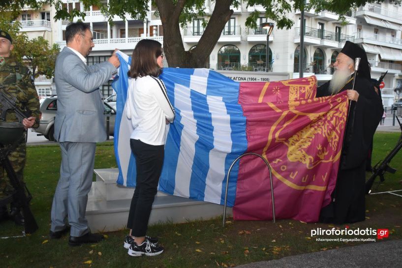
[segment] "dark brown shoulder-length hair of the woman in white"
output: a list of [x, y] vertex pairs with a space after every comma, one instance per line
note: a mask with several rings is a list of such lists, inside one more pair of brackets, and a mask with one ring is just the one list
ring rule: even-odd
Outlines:
[[134, 48], [131, 57], [130, 70], [127, 72], [129, 77], [139, 76], [159, 76], [162, 69], [157, 63], [157, 58], [162, 55], [162, 45], [152, 39], [140, 40]]

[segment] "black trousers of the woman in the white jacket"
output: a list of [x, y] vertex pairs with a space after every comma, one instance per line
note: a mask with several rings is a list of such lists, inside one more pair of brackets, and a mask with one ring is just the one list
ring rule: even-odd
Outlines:
[[135, 156], [137, 178], [127, 228], [132, 229], [132, 236], [144, 237], [147, 233], [165, 151], [163, 145], [149, 145], [134, 139], [130, 139], [130, 147]]

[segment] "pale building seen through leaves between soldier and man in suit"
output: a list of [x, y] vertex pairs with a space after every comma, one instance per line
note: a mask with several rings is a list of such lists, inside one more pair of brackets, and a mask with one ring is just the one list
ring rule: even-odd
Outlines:
[[[54, 43], [52, 34], [54, 15], [55, 12], [49, 5], [43, 4], [40, 10], [33, 10], [30, 7], [23, 8], [16, 20], [21, 23], [21, 31], [25, 32], [30, 39], [41, 36], [51, 45]], [[49, 95], [53, 91], [56, 92], [53, 79], [48, 79], [43, 75], [35, 78], [35, 88], [39, 96]]]

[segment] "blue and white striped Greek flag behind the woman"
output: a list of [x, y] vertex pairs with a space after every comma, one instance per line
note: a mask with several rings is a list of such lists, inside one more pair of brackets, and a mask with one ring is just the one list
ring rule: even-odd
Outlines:
[[[118, 56], [122, 64], [112, 83], [117, 92], [117, 182], [135, 186], [135, 158], [129, 146], [132, 125], [125, 106], [131, 59], [123, 53]], [[158, 190], [223, 204], [229, 167], [247, 149], [246, 118], [238, 104], [240, 84], [209, 69], [164, 68], [161, 79], [176, 118], [167, 128]], [[231, 171], [228, 206], [234, 205], [238, 168], [239, 162]]]

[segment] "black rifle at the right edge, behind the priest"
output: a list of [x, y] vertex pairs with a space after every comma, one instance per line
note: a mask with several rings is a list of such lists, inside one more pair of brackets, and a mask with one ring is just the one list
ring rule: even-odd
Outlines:
[[[396, 117], [398, 120], [398, 123], [401, 127], [401, 131], [402, 131], [402, 124], [401, 121], [398, 119], [398, 117]], [[383, 182], [384, 179], [384, 174], [385, 172], [389, 172], [391, 174], [394, 174], [397, 170], [394, 168], [391, 168], [389, 166], [389, 163], [391, 162], [392, 158], [398, 153], [398, 151], [402, 148], [402, 133], [401, 133], [401, 137], [399, 137], [399, 140], [397, 142], [397, 145], [395, 146], [394, 149], [392, 149], [390, 151], [390, 153], [388, 153], [387, 156], [385, 156], [384, 160], [379, 161], [373, 168], [373, 174], [371, 175], [370, 179], [368, 179], [366, 181], [366, 194], [370, 194], [371, 192], [371, 187], [372, 184], [374, 182], [374, 179], [378, 176], [380, 177], [380, 181]]]

